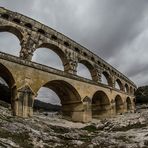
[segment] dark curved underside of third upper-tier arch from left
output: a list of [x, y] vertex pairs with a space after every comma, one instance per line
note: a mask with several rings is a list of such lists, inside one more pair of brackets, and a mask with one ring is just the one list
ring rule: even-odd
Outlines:
[[91, 76], [91, 79], [92, 80], [94, 80], [94, 72], [95, 72], [95, 70], [94, 70], [94, 66], [90, 63], [90, 62], [88, 62], [87, 60], [80, 60], [79, 62], [78, 62], [78, 64], [83, 64], [87, 69], [88, 69], [88, 71], [89, 71], [89, 73], [90, 73], [90, 76]]

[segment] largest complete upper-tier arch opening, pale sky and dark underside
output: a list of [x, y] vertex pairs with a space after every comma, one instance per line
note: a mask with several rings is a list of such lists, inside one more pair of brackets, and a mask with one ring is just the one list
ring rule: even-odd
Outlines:
[[68, 62], [64, 52], [55, 45], [42, 44], [34, 52], [32, 61], [64, 71]]

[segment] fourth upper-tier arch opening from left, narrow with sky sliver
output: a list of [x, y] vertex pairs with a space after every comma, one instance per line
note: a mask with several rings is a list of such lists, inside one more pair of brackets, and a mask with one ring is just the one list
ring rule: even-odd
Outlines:
[[106, 84], [106, 85], [109, 85], [109, 86], [112, 86], [112, 79], [110, 77], [110, 75], [106, 72], [106, 71], [103, 71], [102, 72], [102, 75], [101, 75], [101, 82], [103, 84]]

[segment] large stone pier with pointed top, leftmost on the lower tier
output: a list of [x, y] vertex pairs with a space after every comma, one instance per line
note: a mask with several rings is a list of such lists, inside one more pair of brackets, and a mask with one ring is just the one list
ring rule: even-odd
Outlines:
[[17, 91], [14, 112], [20, 117], [29, 117], [33, 115], [34, 93], [29, 86], [24, 86]]

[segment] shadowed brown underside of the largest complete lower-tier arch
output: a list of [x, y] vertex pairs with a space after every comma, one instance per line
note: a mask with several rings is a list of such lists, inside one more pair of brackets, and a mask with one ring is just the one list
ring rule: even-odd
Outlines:
[[72, 118], [73, 113], [76, 111], [76, 107], [83, 104], [77, 90], [66, 81], [52, 80], [42, 87], [47, 87], [57, 94], [61, 100], [62, 114], [64, 116]]

